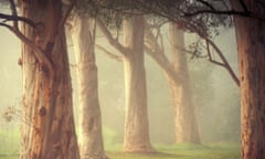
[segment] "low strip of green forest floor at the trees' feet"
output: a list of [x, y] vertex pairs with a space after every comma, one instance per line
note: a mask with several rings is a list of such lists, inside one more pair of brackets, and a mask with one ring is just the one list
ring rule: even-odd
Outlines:
[[[109, 159], [240, 159], [240, 146], [232, 144], [155, 146], [153, 153], [125, 153], [121, 146], [106, 147]], [[19, 159], [19, 153], [3, 153], [0, 159]]]

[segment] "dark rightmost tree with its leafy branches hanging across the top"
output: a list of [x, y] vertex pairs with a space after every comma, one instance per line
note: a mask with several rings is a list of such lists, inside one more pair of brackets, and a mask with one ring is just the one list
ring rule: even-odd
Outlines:
[[[148, 1], [148, 4], [146, 1], [137, 2], [141, 3], [146, 11], [168, 18], [203, 39], [209, 39], [212, 29], [224, 21], [222, 15], [235, 15], [242, 105], [242, 158], [263, 158], [264, 3], [258, 0], [231, 0], [231, 9], [227, 1]], [[210, 17], [213, 19], [209, 19]]]

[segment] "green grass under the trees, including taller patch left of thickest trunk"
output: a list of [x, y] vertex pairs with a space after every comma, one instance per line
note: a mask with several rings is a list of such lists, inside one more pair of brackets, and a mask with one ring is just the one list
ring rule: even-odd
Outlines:
[[[106, 144], [109, 159], [240, 159], [240, 146], [235, 144], [212, 145], [156, 145], [155, 153], [125, 153], [121, 145]], [[0, 159], [19, 159], [19, 132], [0, 129]]]

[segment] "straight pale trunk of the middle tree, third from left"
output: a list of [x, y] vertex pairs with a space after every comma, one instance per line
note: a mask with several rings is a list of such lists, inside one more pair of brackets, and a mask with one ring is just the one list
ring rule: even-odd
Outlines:
[[135, 15], [124, 21], [125, 68], [125, 140], [124, 150], [153, 151], [149, 139], [147, 86], [144, 60], [144, 17]]

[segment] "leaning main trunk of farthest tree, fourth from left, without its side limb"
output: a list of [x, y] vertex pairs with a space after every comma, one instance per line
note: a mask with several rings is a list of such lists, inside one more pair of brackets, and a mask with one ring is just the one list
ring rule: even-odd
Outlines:
[[187, 57], [186, 53], [180, 50], [184, 47], [184, 33], [174, 23], [170, 23], [169, 39], [174, 73], [181, 76], [179, 81], [168, 76], [174, 112], [176, 140], [177, 142], [200, 144]]

